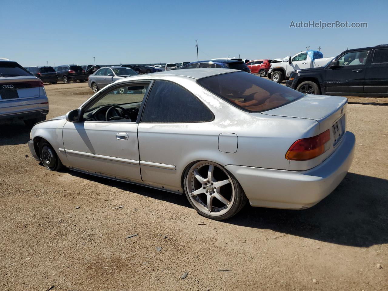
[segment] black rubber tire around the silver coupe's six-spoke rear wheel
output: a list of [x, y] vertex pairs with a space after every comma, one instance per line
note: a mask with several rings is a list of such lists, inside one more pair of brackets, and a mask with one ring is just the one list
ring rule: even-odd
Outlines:
[[[199, 163], [212, 163], [212, 162], [208, 162], [208, 161], [200, 161]], [[204, 211], [202, 211], [201, 209], [199, 209], [191, 200], [190, 198], [190, 193], [187, 191], [187, 189], [189, 189], [187, 187], [187, 177], [189, 175], [189, 171], [191, 170], [192, 166], [194, 165], [197, 165], [198, 162], [188, 166], [185, 170], [185, 173], [184, 173], [184, 180], [183, 180], [183, 187], [184, 187], [184, 191], [185, 191], [185, 194], [186, 194], [186, 197], [187, 197], [187, 200], [189, 200], [189, 203], [191, 204], [191, 206], [199, 213], [199, 215], [202, 215], [203, 217], [206, 217], [206, 218], [210, 218], [210, 219], [213, 219], [213, 220], [225, 220], [225, 219], [229, 219], [231, 217], [233, 217], [234, 215], [236, 215], [239, 211], [242, 210], [242, 208], [245, 206], [245, 204], [247, 203], [248, 201], [248, 198], [246, 197], [245, 193], [244, 193], [244, 190], [242, 190], [242, 187], [241, 185], [239, 184], [239, 182], [236, 180], [236, 178], [233, 177], [233, 175], [229, 172], [227, 172], [224, 168], [222, 168], [222, 166], [220, 165], [217, 165], [218, 167], [221, 167], [223, 171], [226, 171], [228, 173], [228, 175], [230, 176], [230, 180], [232, 180], [231, 182], [233, 183], [233, 186], [234, 186], [234, 189], [235, 189], [235, 198], [234, 198], [234, 201], [233, 201], [233, 204], [232, 206], [229, 206], [229, 210], [227, 211], [227, 213], [223, 214], [223, 215], [220, 215], [220, 216], [213, 216], [213, 215], [208, 215], [207, 213], [205, 213]]]

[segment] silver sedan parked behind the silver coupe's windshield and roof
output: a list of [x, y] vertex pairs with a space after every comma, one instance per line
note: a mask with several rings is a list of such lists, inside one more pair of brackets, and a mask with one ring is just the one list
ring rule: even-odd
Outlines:
[[95, 93], [114, 81], [136, 75], [138, 73], [127, 67], [100, 68], [88, 77], [88, 85]]

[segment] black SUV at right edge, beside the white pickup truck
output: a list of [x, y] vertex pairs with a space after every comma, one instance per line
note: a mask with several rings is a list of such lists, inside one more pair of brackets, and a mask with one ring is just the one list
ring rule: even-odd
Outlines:
[[286, 86], [308, 94], [388, 97], [388, 45], [345, 50], [323, 67], [293, 71]]

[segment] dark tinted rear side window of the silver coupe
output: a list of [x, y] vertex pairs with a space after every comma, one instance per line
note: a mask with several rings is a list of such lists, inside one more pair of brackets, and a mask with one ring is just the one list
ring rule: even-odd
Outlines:
[[213, 120], [213, 114], [185, 88], [156, 80], [147, 97], [141, 122], [189, 123]]

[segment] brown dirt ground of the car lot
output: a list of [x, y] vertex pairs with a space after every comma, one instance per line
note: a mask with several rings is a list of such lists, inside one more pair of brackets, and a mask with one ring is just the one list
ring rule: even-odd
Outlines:
[[[92, 93], [45, 88], [49, 118]], [[355, 158], [332, 194], [223, 222], [185, 196], [48, 171], [22, 122], [0, 124], [0, 290], [388, 290], [388, 100], [350, 102]]]

